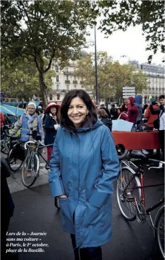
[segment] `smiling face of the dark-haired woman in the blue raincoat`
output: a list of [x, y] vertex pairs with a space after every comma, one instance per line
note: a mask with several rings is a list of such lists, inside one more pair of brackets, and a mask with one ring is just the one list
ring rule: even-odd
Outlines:
[[79, 97], [71, 100], [68, 108], [68, 117], [76, 128], [79, 128], [88, 113], [87, 106]]

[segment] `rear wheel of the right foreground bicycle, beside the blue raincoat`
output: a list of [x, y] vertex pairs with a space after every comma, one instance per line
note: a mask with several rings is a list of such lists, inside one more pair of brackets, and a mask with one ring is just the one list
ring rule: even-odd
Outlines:
[[128, 221], [136, 219], [136, 202], [141, 200], [141, 189], [134, 188], [138, 186], [141, 186], [138, 177], [128, 167], [123, 167], [117, 179], [117, 201], [122, 215]]

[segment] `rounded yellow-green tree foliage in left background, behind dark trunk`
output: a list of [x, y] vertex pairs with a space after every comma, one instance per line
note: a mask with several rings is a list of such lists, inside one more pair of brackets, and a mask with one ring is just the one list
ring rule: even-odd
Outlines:
[[[44, 59], [47, 64], [46, 59]], [[33, 61], [27, 58], [19, 58], [14, 61], [2, 60], [1, 62], [1, 90], [9, 95], [29, 100], [38, 93], [38, 71]], [[54, 70], [50, 69], [45, 76], [47, 88], [51, 88], [51, 77], [56, 76]]]

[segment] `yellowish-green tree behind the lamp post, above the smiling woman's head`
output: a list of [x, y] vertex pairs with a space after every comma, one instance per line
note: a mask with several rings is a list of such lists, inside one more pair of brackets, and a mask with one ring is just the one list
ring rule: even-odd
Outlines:
[[[135, 86], [136, 94], [147, 88], [147, 77], [141, 69], [132, 64], [121, 65], [117, 61], [114, 62], [106, 52], [97, 53], [97, 65], [99, 98], [106, 101], [110, 98], [122, 99], [124, 86]], [[95, 93], [94, 53], [85, 54], [84, 58], [78, 61], [76, 74], [83, 78], [83, 86]]]

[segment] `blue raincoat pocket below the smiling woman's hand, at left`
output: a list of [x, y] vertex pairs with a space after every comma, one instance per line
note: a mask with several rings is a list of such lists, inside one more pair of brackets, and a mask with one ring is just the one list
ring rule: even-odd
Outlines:
[[60, 203], [60, 209], [62, 212], [62, 225], [63, 228], [67, 227], [67, 225], [70, 225], [72, 220], [72, 216], [69, 210], [69, 201], [68, 198], [59, 198]]

